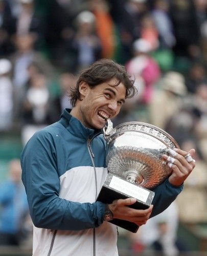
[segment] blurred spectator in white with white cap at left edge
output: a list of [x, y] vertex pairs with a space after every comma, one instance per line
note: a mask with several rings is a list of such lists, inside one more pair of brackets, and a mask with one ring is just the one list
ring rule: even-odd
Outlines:
[[11, 129], [13, 124], [13, 84], [12, 69], [8, 59], [0, 59], [0, 131]]

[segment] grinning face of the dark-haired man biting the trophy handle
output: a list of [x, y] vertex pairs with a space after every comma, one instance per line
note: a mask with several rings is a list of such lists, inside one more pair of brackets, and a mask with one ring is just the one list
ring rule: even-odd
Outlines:
[[[118, 80], [112, 78], [90, 88], [84, 83], [83, 100], [80, 101], [78, 119], [88, 128], [102, 129], [107, 122], [107, 118], [113, 118], [120, 112], [122, 104], [125, 102], [126, 88], [123, 83], [118, 86]], [[81, 86], [80, 86], [81, 90]]]

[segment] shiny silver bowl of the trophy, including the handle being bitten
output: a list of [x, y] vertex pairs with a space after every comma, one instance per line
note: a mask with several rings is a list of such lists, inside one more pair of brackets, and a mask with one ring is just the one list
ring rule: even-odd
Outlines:
[[153, 188], [172, 172], [163, 162], [167, 148], [179, 148], [164, 130], [144, 122], [126, 122], [105, 128], [108, 172], [144, 188]]

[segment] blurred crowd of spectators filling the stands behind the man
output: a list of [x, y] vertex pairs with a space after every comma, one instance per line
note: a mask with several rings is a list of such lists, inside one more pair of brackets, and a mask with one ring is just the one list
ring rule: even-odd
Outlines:
[[[183, 150], [196, 149], [196, 168], [172, 209], [127, 234], [132, 251], [178, 255], [188, 247], [176, 242], [178, 222], [207, 222], [206, 0], [0, 0], [0, 134], [15, 131], [24, 146], [59, 120], [79, 72], [100, 58], [124, 65], [138, 91], [114, 125], [148, 122]], [[12, 178], [18, 165], [11, 160], [0, 186], [0, 244], [20, 243], [22, 220], [24, 236], [31, 233], [21, 182]]]

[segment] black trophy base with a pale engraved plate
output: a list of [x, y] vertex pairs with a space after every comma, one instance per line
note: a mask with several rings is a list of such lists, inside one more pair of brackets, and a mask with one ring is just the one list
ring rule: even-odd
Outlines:
[[[129, 207], [134, 209], [147, 209], [152, 203], [154, 192], [108, 173], [96, 201], [110, 204], [113, 200], [126, 198], [136, 198], [137, 200], [134, 204], [129, 205]], [[139, 229], [139, 226], [135, 223], [125, 220], [113, 219], [109, 222], [133, 233], [136, 233]]]

